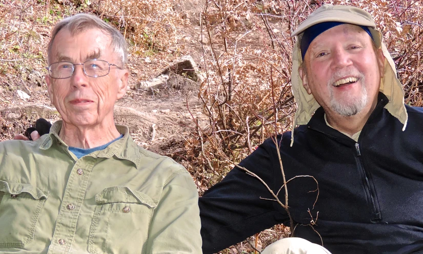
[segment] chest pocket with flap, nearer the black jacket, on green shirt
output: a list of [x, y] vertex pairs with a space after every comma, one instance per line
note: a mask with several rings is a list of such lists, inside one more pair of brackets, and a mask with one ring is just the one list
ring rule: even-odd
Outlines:
[[95, 196], [88, 252], [144, 253], [157, 200], [125, 186], [104, 189]]

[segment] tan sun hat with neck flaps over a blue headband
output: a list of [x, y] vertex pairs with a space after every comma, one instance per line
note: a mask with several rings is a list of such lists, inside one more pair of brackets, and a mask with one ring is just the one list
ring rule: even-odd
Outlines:
[[311, 13], [291, 34], [291, 36], [297, 36], [297, 41], [292, 52], [291, 88], [297, 103], [297, 111], [295, 112], [292, 123], [291, 146], [294, 142], [293, 133], [295, 126], [297, 124], [307, 124], [312, 114], [320, 107], [313, 95], [308, 94], [303, 87], [303, 81], [299, 76], [298, 68], [303, 63], [300, 51], [303, 32], [307, 28], [323, 22], [344, 22], [352, 25], [367, 26], [369, 28], [376, 47], [381, 49], [385, 56], [384, 77], [380, 80], [379, 91], [388, 97], [389, 102], [385, 108], [391, 115], [404, 124], [402, 131], [405, 131], [408, 115], [404, 105], [404, 90], [396, 76], [394, 61], [386, 46], [382, 43], [382, 34], [376, 30], [372, 16], [367, 11], [357, 7], [326, 4]]

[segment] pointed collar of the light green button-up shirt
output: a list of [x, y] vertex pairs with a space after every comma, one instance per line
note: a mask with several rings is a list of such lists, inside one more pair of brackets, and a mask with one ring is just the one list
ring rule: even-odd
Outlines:
[[[116, 124], [115, 126], [117, 131], [120, 134], [123, 134], [124, 137], [111, 143], [109, 146], [106, 147], [106, 149], [96, 151], [90, 156], [94, 158], [110, 158], [112, 156], [116, 156], [119, 159], [131, 161], [138, 168], [141, 160], [138, 145], [135, 144], [131, 135], [129, 135], [129, 129], [127, 126], [118, 124]], [[58, 135], [61, 129], [62, 120], [54, 122], [50, 128], [50, 133], [47, 135], [47, 137], [39, 146], [39, 148], [42, 150], [48, 150], [51, 148], [54, 142], [59, 145], [64, 145], [68, 147], [68, 145], [65, 144], [65, 142], [63, 142], [63, 140]]]

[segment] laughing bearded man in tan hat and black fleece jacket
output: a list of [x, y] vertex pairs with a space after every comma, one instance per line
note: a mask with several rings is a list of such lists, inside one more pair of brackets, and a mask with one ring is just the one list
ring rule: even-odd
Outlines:
[[285, 200], [279, 153], [286, 179], [313, 176], [318, 191], [310, 177], [290, 181], [288, 215], [263, 184], [235, 167], [199, 200], [204, 253], [279, 223], [293, 223], [294, 238], [263, 254], [418, 251], [423, 110], [404, 104], [373, 18], [359, 8], [324, 5], [292, 36], [293, 130], [266, 140], [240, 166], [274, 193], [281, 189]]

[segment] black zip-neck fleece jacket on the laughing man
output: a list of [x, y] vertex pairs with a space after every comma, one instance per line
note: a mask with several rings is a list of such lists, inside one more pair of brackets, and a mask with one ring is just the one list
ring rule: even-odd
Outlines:
[[[386, 96], [379, 93], [358, 142], [330, 128], [322, 108], [307, 125], [295, 129], [292, 147], [291, 132], [277, 136], [286, 179], [308, 175], [318, 182], [318, 192], [310, 177], [287, 184], [294, 236], [317, 244], [323, 241], [333, 254], [419, 250], [423, 239], [423, 109], [406, 106], [409, 120], [403, 132], [403, 125], [384, 108], [386, 103]], [[283, 178], [274, 140], [267, 139], [240, 165], [276, 193]], [[279, 199], [283, 202], [284, 196], [282, 189]], [[275, 224], [290, 224], [279, 204], [261, 198], [273, 199], [263, 184], [237, 167], [211, 187], [199, 199], [204, 254]]]

